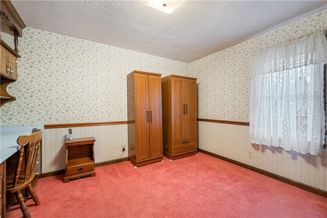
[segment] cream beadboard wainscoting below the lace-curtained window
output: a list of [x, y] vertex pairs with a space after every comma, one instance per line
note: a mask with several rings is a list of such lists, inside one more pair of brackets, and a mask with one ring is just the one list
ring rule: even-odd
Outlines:
[[249, 142], [249, 126], [211, 121], [198, 121], [198, 142], [200, 150], [327, 191], [327, 149], [314, 156], [259, 146]]

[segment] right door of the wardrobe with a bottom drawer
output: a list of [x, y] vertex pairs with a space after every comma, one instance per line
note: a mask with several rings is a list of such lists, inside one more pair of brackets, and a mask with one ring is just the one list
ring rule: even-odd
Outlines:
[[185, 80], [185, 138], [197, 137], [196, 80]]

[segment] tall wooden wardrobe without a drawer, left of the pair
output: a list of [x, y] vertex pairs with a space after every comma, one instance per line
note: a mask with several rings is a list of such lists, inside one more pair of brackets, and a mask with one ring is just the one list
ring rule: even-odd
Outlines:
[[161, 74], [127, 75], [128, 160], [135, 166], [161, 161]]

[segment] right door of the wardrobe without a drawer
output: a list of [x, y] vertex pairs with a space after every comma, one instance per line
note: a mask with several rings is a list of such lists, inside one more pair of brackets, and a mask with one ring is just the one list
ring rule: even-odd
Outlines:
[[150, 157], [162, 156], [161, 77], [149, 75]]

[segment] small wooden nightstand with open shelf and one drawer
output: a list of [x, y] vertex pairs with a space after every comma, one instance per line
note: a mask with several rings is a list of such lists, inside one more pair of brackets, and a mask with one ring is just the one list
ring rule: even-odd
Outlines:
[[67, 139], [65, 141], [66, 176], [64, 182], [89, 175], [96, 176], [95, 141], [95, 137]]

